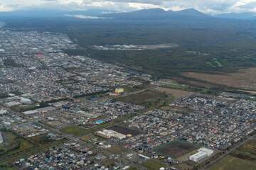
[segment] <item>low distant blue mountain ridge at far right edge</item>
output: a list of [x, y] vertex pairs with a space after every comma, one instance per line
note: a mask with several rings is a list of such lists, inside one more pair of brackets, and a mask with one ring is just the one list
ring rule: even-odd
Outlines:
[[256, 13], [252, 13], [252, 12], [247, 12], [247, 13], [221, 13], [221, 14], [215, 15], [215, 17], [254, 20], [254, 19], [256, 19]]

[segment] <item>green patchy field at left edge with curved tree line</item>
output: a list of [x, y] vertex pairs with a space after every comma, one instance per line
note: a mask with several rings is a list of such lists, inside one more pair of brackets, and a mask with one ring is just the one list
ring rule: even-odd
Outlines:
[[5, 132], [5, 135], [8, 144], [0, 147], [0, 157], [6, 157], [18, 152], [23, 152], [24, 150], [30, 149], [34, 146], [12, 132]]

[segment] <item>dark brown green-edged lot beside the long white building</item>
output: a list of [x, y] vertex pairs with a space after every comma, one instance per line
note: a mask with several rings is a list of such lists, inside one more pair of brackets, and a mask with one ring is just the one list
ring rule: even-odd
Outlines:
[[190, 144], [188, 142], [174, 140], [174, 142], [170, 142], [166, 145], [156, 147], [156, 149], [154, 149], [154, 152], [177, 159], [178, 157], [193, 152], [194, 150], [199, 148], [199, 146]]

